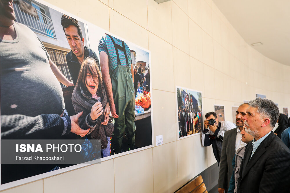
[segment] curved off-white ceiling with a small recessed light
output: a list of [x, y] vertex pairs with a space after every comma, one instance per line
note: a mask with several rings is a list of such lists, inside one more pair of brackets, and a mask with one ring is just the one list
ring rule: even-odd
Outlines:
[[213, 0], [237, 32], [264, 56], [290, 65], [289, 0]]

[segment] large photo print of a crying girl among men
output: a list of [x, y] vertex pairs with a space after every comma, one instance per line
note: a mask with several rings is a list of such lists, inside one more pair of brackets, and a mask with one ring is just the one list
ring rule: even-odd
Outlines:
[[[11, 4], [3, 9], [13, 8], [15, 35], [0, 41], [1, 139], [99, 139], [105, 160], [152, 146], [150, 52], [59, 8]], [[70, 166], [2, 164], [1, 184], [82, 167]]]

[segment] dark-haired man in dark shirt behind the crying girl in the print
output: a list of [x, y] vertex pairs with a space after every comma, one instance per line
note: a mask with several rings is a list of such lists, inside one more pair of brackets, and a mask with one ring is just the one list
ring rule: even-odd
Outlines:
[[71, 51], [66, 54], [66, 62], [68, 64], [68, 69], [70, 71], [70, 76], [73, 79], [73, 83], [76, 84], [77, 77], [79, 76], [79, 69], [84, 59], [88, 56], [93, 57], [98, 66], [99, 59], [97, 54], [92, 49], [84, 45], [81, 27], [76, 19], [63, 15], [61, 16], [60, 22], [71, 49]]

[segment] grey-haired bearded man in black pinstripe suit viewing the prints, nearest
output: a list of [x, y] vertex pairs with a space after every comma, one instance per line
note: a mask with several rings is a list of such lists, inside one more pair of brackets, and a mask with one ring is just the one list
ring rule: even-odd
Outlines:
[[279, 109], [268, 99], [249, 102], [244, 116], [246, 132], [254, 137], [246, 146], [238, 192], [289, 192], [290, 150], [272, 129]]

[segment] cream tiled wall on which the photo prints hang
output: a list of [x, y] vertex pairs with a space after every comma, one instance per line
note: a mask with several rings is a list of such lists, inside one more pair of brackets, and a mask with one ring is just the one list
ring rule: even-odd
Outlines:
[[46, 1], [151, 51], [154, 138], [164, 144], [4, 192], [174, 192], [216, 163], [200, 135], [177, 139], [175, 86], [202, 91], [203, 112], [224, 105], [228, 121], [255, 93], [290, 111], [290, 66], [247, 45], [211, 0]]

